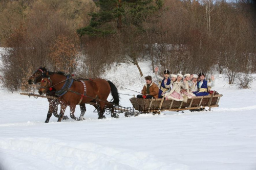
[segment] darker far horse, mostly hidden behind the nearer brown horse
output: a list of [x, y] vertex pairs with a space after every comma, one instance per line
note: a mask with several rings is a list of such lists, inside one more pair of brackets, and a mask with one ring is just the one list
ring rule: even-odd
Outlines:
[[[44, 78], [44, 75], [46, 74], [47, 69], [45, 67], [39, 67], [37, 70], [35, 70], [35, 72], [33, 73], [33, 75], [29, 78], [28, 83], [29, 84], [36, 84], [39, 83], [41, 81], [42, 78]], [[52, 91], [48, 91], [46, 93], [47, 96], [55, 96], [55, 89], [53, 89]], [[52, 116], [52, 114], [59, 118], [59, 114], [58, 114], [58, 105], [59, 105], [59, 101], [56, 99], [47, 99], [49, 102], [49, 109], [48, 109], [48, 113], [47, 113], [47, 118], [45, 123], [49, 123], [50, 117]], [[84, 115], [84, 113], [86, 113], [86, 105], [82, 104], [80, 105], [80, 109], [81, 109], [81, 115]], [[63, 116], [62, 119], [68, 119], [68, 116]]]

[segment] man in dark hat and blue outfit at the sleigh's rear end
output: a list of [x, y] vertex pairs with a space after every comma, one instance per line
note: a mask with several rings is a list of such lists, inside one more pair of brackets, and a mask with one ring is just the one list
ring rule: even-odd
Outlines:
[[193, 92], [196, 96], [203, 96], [203, 95], [209, 95], [208, 93], [208, 87], [214, 87], [214, 76], [211, 76], [211, 81], [207, 82], [205, 80], [205, 75], [203, 72], [200, 72], [198, 74], [198, 77], [200, 79], [199, 82], [197, 82], [198, 91]]

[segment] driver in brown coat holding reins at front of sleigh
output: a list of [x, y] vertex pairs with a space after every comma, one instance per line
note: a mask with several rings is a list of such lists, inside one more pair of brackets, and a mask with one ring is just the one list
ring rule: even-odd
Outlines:
[[142, 95], [137, 95], [137, 98], [151, 99], [152, 97], [158, 99], [159, 88], [156, 83], [152, 82], [151, 76], [145, 77], [146, 84], [141, 90]]

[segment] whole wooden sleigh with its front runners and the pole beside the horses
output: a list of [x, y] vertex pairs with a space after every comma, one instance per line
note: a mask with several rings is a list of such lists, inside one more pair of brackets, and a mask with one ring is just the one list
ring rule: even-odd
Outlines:
[[[134, 108], [114, 106], [115, 113], [124, 113], [126, 117], [137, 116], [141, 113], [160, 113], [161, 111], [199, 111], [204, 110], [205, 107], [219, 107], [218, 103], [222, 94], [214, 94], [215, 91], [210, 95], [197, 96], [192, 99], [187, 99], [187, 102], [180, 102], [174, 100], [162, 99], [138, 99], [131, 98], [130, 101]], [[29, 95], [41, 98], [58, 99], [55, 96], [45, 96], [32, 93], [20, 93], [23, 95]], [[107, 102], [108, 103], [108, 102]], [[89, 102], [87, 104], [96, 106], [96, 103]]]

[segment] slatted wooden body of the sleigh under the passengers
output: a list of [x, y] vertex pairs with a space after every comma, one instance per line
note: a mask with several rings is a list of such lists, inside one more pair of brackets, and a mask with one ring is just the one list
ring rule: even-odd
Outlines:
[[138, 99], [131, 98], [135, 110], [140, 113], [160, 112], [160, 111], [182, 111], [182, 110], [202, 110], [205, 107], [219, 107], [218, 103], [222, 94], [214, 94], [215, 91], [206, 96], [196, 96], [192, 99], [187, 99], [187, 102], [165, 100], [162, 99]]

